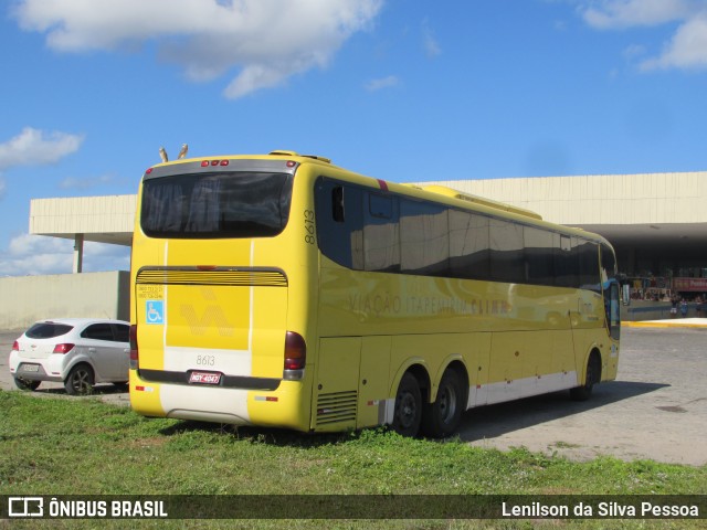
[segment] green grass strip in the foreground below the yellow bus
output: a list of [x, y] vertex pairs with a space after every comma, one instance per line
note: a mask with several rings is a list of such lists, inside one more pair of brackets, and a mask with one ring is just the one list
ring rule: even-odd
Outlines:
[[[382, 428], [337, 435], [222, 428], [205, 423], [147, 420], [127, 407], [98, 400], [39, 399], [0, 391], [0, 495], [694, 495], [704, 491], [707, 491], [705, 466], [652, 460], [624, 463], [611, 457], [574, 463], [525, 448], [503, 453], [472, 447], [457, 439], [404, 438]], [[106, 524], [106, 521], [94, 522], [95, 528]], [[176, 528], [184, 523], [173, 522], [180, 522]], [[548, 528], [570, 524], [623, 528], [615, 526], [619, 522], [551, 521], [546, 524]], [[80, 524], [77, 521], [65, 523]], [[293, 521], [294, 526], [304, 523]], [[338, 521], [335, 526], [354, 528], [350, 527], [354, 523]], [[372, 526], [532, 528], [526, 523], [374, 521]], [[666, 524], [685, 528], [685, 523], [632, 521], [634, 528], [666, 528]], [[94, 528], [92, 522], [81, 524]], [[242, 526], [282, 528], [285, 524], [242, 521]], [[327, 527], [331, 524], [321, 528]]]

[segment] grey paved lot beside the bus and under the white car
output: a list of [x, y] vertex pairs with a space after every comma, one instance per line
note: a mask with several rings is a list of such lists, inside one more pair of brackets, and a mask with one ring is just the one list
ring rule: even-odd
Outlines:
[[[707, 464], [707, 320], [626, 326], [622, 333], [618, 380], [597, 386], [590, 401], [577, 403], [568, 392], [558, 392], [472, 410], [464, 415], [462, 439], [500, 449], [525, 446], [572, 459], [613, 455]], [[14, 390], [7, 362], [19, 335], [0, 331], [2, 390]], [[34, 394], [66, 396], [60, 383], [42, 383]], [[112, 385], [98, 385], [96, 394], [129, 404], [128, 394]]]

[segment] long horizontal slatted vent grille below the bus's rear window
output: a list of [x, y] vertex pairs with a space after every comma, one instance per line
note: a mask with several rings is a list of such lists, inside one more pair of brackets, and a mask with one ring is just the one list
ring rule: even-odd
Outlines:
[[137, 283], [287, 287], [287, 277], [279, 271], [198, 271], [194, 268], [146, 267], [137, 273]]

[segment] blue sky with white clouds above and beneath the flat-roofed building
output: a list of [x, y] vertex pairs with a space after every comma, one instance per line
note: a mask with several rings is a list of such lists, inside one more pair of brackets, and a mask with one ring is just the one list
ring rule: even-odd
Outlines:
[[[9, 0], [0, 276], [70, 273], [33, 198], [291, 149], [391, 181], [707, 170], [707, 0]], [[85, 271], [129, 266], [86, 245]]]

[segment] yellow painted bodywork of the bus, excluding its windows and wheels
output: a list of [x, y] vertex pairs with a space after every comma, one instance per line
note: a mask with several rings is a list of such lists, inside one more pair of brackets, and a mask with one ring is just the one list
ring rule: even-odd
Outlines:
[[[350, 271], [321, 255], [312, 237], [314, 187], [325, 176], [568, 236], [599, 237], [526, 211], [471, 203], [451, 191], [433, 194], [376, 182], [294, 153], [247, 158], [292, 158], [299, 165], [284, 231], [254, 240], [151, 240], [141, 233], [138, 208], [131, 322], [138, 326], [139, 367], [147, 375], [215, 371], [244, 378], [247, 384], [265, 381], [263, 388], [166, 383], [130, 370], [137, 412], [328, 432], [391, 423], [407, 370], [423, 382], [428, 402], [435, 400], [451, 364], [463, 370], [467, 409], [581, 385], [593, 352], [601, 356], [602, 380], [615, 379], [619, 342], [609, 336], [601, 296], [573, 288]], [[146, 266], [205, 272], [144, 282], [139, 271]], [[235, 272], [224, 273], [225, 285], [209, 279], [210, 266]], [[267, 272], [238, 273], [242, 269]], [[161, 319], [150, 321], [160, 310]], [[306, 339], [300, 381], [283, 379], [286, 331]], [[268, 381], [276, 388], [265, 388]]]

